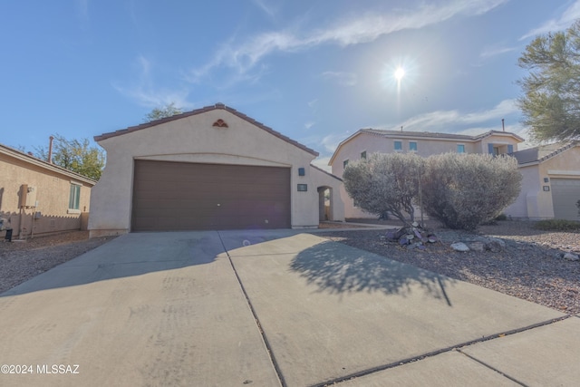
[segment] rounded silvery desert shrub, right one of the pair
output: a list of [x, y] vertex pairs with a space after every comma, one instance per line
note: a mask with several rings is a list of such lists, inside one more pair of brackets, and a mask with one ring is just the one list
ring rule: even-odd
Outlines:
[[433, 155], [421, 178], [423, 208], [446, 227], [473, 230], [517, 198], [521, 179], [512, 157]]

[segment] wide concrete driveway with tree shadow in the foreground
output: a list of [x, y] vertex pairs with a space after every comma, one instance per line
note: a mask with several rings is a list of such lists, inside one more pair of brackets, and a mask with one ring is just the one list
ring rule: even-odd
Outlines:
[[578, 332], [312, 234], [130, 234], [0, 296], [0, 385], [575, 385]]

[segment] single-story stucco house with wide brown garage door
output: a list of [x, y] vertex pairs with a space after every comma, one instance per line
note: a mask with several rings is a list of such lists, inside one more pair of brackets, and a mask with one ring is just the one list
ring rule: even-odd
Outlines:
[[94, 138], [107, 151], [91, 237], [134, 231], [318, 227], [344, 219], [318, 153], [222, 103]]

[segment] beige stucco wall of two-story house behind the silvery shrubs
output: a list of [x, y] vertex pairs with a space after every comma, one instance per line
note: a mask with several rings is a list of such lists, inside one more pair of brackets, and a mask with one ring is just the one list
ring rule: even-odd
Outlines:
[[[418, 136], [420, 133], [418, 132]], [[367, 152], [367, 157], [372, 153], [391, 153], [394, 152], [394, 141], [402, 142], [402, 152], [408, 152], [409, 142], [417, 142], [417, 154], [422, 157], [429, 157], [433, 154], [457, 152], [458, 144], [465, 145], [466, 153], [488, 153], [488, 143], [500, 147], [500, 150], [507, 152], [507, 145], [513, 145], [514, 151], [517, 151], [517, 140], [511, 135], [501, 133], [491, 134], [481, 140], [455, 140], [455, 139], [427, 139], [420, 138], [410, 139], [406, 137], [384, 137], [368, 132], [361, 132], [351, 140], [344, 142], [337, 154], [332, 160], [333, 175], [343, 177], [343, 162], [349, 160], [353, 162], [361, 159], [362, 151]], [[344, 187], [341, 187], [341, 197], [344, 202], [344, 218], [376, 218], [375, 214], [370, 214], [361, 208], [354, 207], [353, 199], [348, 196]]]

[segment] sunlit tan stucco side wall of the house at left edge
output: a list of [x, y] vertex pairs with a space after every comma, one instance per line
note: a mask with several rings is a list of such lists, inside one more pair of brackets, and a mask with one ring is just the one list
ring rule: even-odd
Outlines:
[[[25, 157], [24, 157], [25, 159]], [[9, 219], [13, 237], [30, 237], [82, 228], [91, 199], [91, 184], [0, 153], [0, 218]], [[71, 182], [81, 185], [80, 209], [70, 210]], [[36, 189], [36, 208], [18, 208], [23, 184]], [[35, 213], [36, 217], [34, 217]], [[82, 214], [84, 213], [84, 214]], [[33, 222], [34, 220], [34, 222]], [[5, 232], [0, 234], [5, 236]]]

